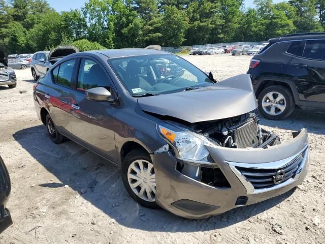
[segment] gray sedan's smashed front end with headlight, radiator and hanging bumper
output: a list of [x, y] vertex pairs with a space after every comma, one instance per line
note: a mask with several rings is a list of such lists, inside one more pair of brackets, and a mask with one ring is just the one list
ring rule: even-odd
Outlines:
[[[192, 124], [162, 121], [157, 130], [168, 144], [154, 157], [174, 162], [164, 169], [155, 165], [156, 199], [186, 218], [201, 219], [278, 196], [301, 184], [307, 174], [306, 130], [281, 144], [276, 134], [259, 126], [254, 113]], [[160, 170], [172, 175], [170, 188], [159, 182]], [[191, 184], [190, 191], [186, 184]]]

